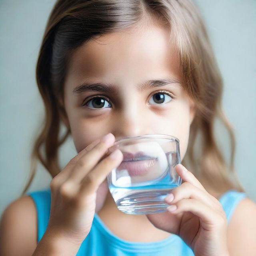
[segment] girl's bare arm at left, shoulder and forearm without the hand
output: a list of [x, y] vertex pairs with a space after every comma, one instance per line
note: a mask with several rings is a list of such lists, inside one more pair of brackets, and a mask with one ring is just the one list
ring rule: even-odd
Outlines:
[[0, 222], [1, 256], [71, 256], [80, 245], [68, 242], [64, 236], [46, 230], [37, 244], [36, 208], [30, 196], [22, 196], [9, 204]]

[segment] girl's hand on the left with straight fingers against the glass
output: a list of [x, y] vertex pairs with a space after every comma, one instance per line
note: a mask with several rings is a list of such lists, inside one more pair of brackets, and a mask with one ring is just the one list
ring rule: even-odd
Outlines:
[[52, 179], [47, 233], [78, 245], [86, 238], [94, 218], [96, 191], [112, 168], [123, 160], [120, 150], [104, 158], [114, 141], [110, 134], [107, 140], [92, 142]]

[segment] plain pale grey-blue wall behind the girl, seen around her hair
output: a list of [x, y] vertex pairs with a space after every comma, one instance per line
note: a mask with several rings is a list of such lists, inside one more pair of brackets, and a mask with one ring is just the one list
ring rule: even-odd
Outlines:
[[[35, 79], [36, 60], [54, 0], [0, 1], [0, 214], [28, 180], [30, 151], [44, 106]], [[223, 108], [236, 135], [235, 166], [256, 201], [256, 1], [195, 0], [206, 21], [224, 79]], [[226, 134], [218, 135], [226, 144]], [[60, 149], [62, 168], [76, 155], [72, 141]], [[49, 186], [38, 164], [28, 191]]]

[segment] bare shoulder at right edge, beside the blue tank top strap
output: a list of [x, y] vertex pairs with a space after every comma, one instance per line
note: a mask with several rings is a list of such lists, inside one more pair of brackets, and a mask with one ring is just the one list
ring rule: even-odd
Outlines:
[[242, 199], [228, 224], [228, 248], [230, 255], [255, 255], [256, 252], [256, 203]]

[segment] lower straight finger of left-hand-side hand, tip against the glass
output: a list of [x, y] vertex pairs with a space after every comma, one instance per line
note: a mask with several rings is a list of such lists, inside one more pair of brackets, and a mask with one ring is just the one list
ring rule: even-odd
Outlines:
[[89, 174], [81, 181], [81, 192], [95, 192], [98, 186], [106, 179], [110, 171], [119, 166], [123, 160], [122, 152], [117, 149], [108, 157], [104, 158]]

